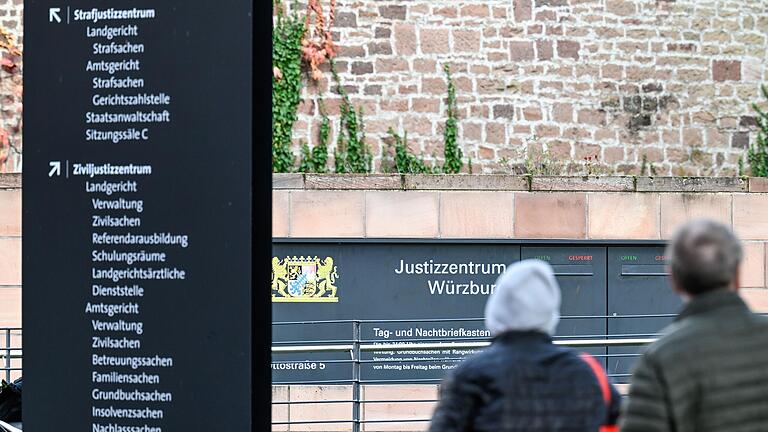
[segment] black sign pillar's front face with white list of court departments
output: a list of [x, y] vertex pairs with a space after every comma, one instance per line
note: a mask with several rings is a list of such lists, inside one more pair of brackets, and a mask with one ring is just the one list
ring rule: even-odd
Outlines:
[[25, 431], [250, 430], [251, 20], [25, 2]]

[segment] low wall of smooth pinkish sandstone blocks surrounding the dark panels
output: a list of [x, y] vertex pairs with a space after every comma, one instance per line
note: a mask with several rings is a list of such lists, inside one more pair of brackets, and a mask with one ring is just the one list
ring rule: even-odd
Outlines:
[[[743, 239], [742, 296], [768, 312], [768, 182], [741, 178], [273, 176], [275, 237], [667, 239], [709, 217]], [[619, 386], [626, 392], [626, 386]], [[275, 386], [275, 401], [349, 400], [349, 386]], [[435, 385], [363, 390], [365, 420], [428, 419]], [[273, 421], [351, 419], [351, 403], [273, 406]], [[369, 423], [367, 431], [423, 431], [425, 422]], [[288, 430], [274, 427], [273, 430]], [[292, 425], [349, 431], [349, 423]]]

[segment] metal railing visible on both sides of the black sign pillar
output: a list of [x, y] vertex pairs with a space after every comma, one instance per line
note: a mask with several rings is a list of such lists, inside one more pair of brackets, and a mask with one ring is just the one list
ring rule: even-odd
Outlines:
[[[569, 316], [562, 317], [562, 320], [569, 319], [641, 319], [641, 318], [671, 318], [673, 315], [626, 315], [626, 316]], [[378, 384], [429, 384], [435, 385], [440, 382], [440, 378], [427, 378], [427, 379], [403, 379], [403, 380], [375, 380], [364, 379], [362, 376], [362, 368], [364, 366], [376, 364], [376, 363], [408, 363], [408, 362], [435, 362], [435, 363], [458, 363], [463, 360], [462, 357], [435, 357], [431, 359], [420, 358], [418, 360], [408, 359], [387, 359], [387, 360], [375, 360], [363, 358], [364, 353], [372, 352], [396, 352], [398, 350], [439, 350], [439, 349], [482, 349], [490, 344], [490, 341], [485, 338], [424, 338], [422, 340], [402, 340], [394, 339], [390, 342], [380, 343], [379, 340], [364, 339], [362, 337], [362, 326], [372, 324], [394, 324], [394, 323], [447, 323], [447, 322], [478, 322], [481, 319], [445, 319], [445, 320], [331, 320], [331, 321], [296, 321], [296, 322], [276, 322], [273, 326], [289, 326], [289, 325], [323, 325], [323, 324], [348, 324], [352, 327], [351, 338], [348, 339], [326, 339], [326, 340], [294, 340], [294, 341], [276, 341], [273, 342], [272, 353], [275, 355], [301, 355], [301, 354], [318, 354], [318, 353], [345, 353], [349, 355], [349, 358], [345, 359], [331, 359], [322, 360], [328, 364], [347, 364], [351, 366], [350, 379], [344, 380], [301, 380], [301, 381], [288, 381], [288, 382], [274, 382], [276, 386], [315, 386], [315, 385], [347, 385], [351, 389], [351, 397], [347, 398], [334, 398], [327, 400], [273, 400], [272, 405], [274, 407], [301, 407], [307, 405], [351, 405], [349, 412], [349, 418], [339, 419], [287, 419], [273, 421], [272, 425], [275, 429], [284, 428], [287, 430], [291, 426], [304, 427], [305, 429], [314, 427], [317, 430], [318, 426], [328, 425], [328, 429], [339, 429], [341, 425], [348, 425], [346, 430], [351, 432], [359, 432], [361, 430], [370, 430], [371, 425], [392, 425], [392, 424], [426, 424], [430, 421], [428, 415], [423, 418], [375, 418], [370, 419], [363, 415], [364, 407], [375, 405], [398, 405], [398, 404], [424, 404], [428, 408], [431, 405], [438, 402], [437, 398], [384, 398], [384, 399], [368, 399], [363, 397], [363, 388], [367, 385]], [[651, 343], [655, 340], [656, 334], [621, 334], [621, 335], [580, 335], [580, 336], [564, 336], [556, 338], [555, 344], [570, 346], [570, 347], [639, 347]], [[4, 344], [0, 345], [0, 357], [2, 357], [3, 376], [6, 382], [10, 382], [15, 372], [22, 371], [22, 329], [20, 327], [8, 327], [0, 328], [0, 337], [4, 341]], [[617, 357], [634, 357], [636, 353], [620, 353], [620, 354], [596, 354], [595, 357], [600, 358], [617, 358]], [[305, 361], [317, 361], [317, 360], [305, 360]], [[296, 361], [291, 361], [295, 363]], [[273, 363], [280, 363], [273, 362]], [[625, 377], [628, 374], [612, 374], [611, 377]], [[331, 427], [335, 426], [335, 427]]]

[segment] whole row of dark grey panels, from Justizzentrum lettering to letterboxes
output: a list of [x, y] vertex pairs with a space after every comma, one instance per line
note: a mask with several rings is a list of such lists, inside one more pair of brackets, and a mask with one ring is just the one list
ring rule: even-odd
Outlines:
[[[313, 265], [322, 265], [326, 257], [332, 257], [337, 269], [338, 300], [273, 303], [274, 320], [341, 322], [273, 326], [273, 336], [279, 346], [318, 340], [348, 344], [353, 337], [353, 321], [362, 320], [359, 330], [363, 343], [484, 340], [481, 318], [486, 293], [502, 267], [490, 274], [474, 275], [423, 274], [423, 270], [447, 264], [450, 273], [450, 264], [501, 265], [518, 258], [545, 260], [556, 273], [563, 295], [563, 319], [557, 329], [557, 339], [654, 336], [671, 322], [672, 316], [621, 316], [672, 315], [679, 310], [680, 299], [667, 284], [663, 252], [658, 243], [601, 246], [595, 242], [526, 244], [525, 241], [482, 240], [279, 241], [275, 242], [275, 258], [279, 263], [286, 264], [280, 260], [292, 256], [299, 260], [310, 257], [310, 274], [314, 271]], [[318, 261], [312, 264], [315, 257]], [[401, 260], [409, 269], [422, 273], [396, 273], [401, 268]], [[411, 267], [414, 263], [422, 265]], [[453, 294], [430, 293], [430, 284], [436, 289], [434, 284], [441, 281], [446, 282], [444, 287], [451, 287]], [[454, 284], [449, 284], [450, 281]], [[473, 351], [366, 353], [361, 378], [364, 382], [434, 381]], [[587, 348], [584, 351], [600, 356], [609, 373], [615, 375], [615, 381], [626, 382], [625, 375], [634, 363], [638, 348]], [[418, 361], [402, 361], [415, 358]], [[352, 379], [349, 353], [281, 354], [273, 356], [273, 360], [277, 362], [273, 368], [310, 368], [273, 370], [275, 382]], [[316, 364], [307, 365], [303, 360]], [[288, 363], [279, 363], [281, 361]]]

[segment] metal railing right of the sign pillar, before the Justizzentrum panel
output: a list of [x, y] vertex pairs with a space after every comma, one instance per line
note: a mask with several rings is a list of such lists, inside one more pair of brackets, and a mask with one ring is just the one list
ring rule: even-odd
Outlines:
[[[673, 314], [646, 314], [646, 315], [607, 315], [607, 316], [565, 316], [561, 319], [563, 321], [568, 320], [608, 320], [612, 319], [669, 319], [671, 320]], [[368, 405], [376, 404], [435, 404], [438, 399], [432, 398], [405, 398], [405, 399], [375, 399], [370, 400], [367, 397], [362, 396], [362, 390], [368, 385], [379, 384], [438, 384], [441, 378], [421, 378], [421, 379], [364, 379], [361, 374], [364, 366], [370, 366], [376, 363], [458, 363], [463, 360], [464, 357], [433, 357], [426, 358], [422, 356], [417, 359], [408, 358], [392, 358], [392, 359], [366, 359], [364, 354], [372, 352], [392, 352], [408, 350], [408, 351], [420, 351], [420, 350], [452, 350], [452, 349], [466, 349], [477, 350], [482, 349], [490, 345], [488, 338], [467, 338], [467, 337], [455, 337], [455, 338], [422, 338], [422, 339], [392, 339], [382, 342], [381, 339], [364, 339], [362, 335], [362, 327], [364, 325], [385, 325], [385, 324], [416, 324], [416, 323], [469, 323], [469, 322], [481, 322], [481, 318], [469, 318], [469, 319], [424, 319], [424, 320], [327, 320], [327, 321], [291, 321], [291, 322], [275, 322], [273, 323], [273, 329], [278, 329], [285, 326], [318, 326], [318, 325], [350, 325], [352, 337], [350, 339], [323, 339], [323, 340], [283, 340], [273, 341], [272, 354], [274, 356], [285, 355], [301, 355], [305, 354], [306, 357], [303, 360], [294, 359], [291, 361], [275, 360], [274, 364], [281, 363], [297, 363], [297, 362], [322, 362], [327, 364], [336, 365], [349, 365], [351, 368], [351, 376], [348, 379], [316, 379], [316, 380], [283, 380], [277, 381], [273, 378], [273, 386], [290, 386], [302, 387], [302, 386], [317, 386], [317, 385], [344, 385], [350, 387], [351, 398], [331, 398], [325, 400], [294, 400], [294, 397], [288, 397], [286, 400], [273, 400], [273, 407], [283, 408], [291, 407], [301, 408], [306, 405], [317, 404], [319, 406], [327, 407], [332, 404], [344, 404], [345, 412], [348, 413], [349, 418], [303, 418], [292, 419], [290, 414], [285, 419], [278, 419], [275, 421], [273, 418], [273, 430], [287, 430], [292, 426], [300, 426], [305, 429], [310, 427], [317, 427], [320, 425], [327, 425], [329, 429], [333, 430], [348, 430], [350, 432], [360, 432], [361, 430], [370, 430], [371, 425], [376, 424], [426, 424], [430, 421], [428, 415], [424, 415], [425, 418], [376, 418], [370, 419], [368, 416], [363, 416], [361, 413]], [[607, 326], [606, 326], [607, 328]], [[652, 343], [656, 340], [658, 334], [600, 334], [600, 335], [571, 335], [557, 337], [553, 341], [557, 345], [569, 346], [574, 348], [606, 348], [605, 354], [594, 354], [597, 358], [616, 359], [616, 358], [631, 358], [636, 357], [639, 354], [637, 352], [628, 353], [609, 353], [608, 347], [641, 347]], [[327, 359], [318, 360], [310, 359], [312, 356], [344, 353], [348, 354], [348, 358], [344, 359]], [[618, 379], [628, 377], [628, 373], [614, 373], [609, 377]], [[292, 393], [291, 393], [292, 394]], [[350, 409], [347, 410], [346, 407]], [[431, 406], [427, 406], [431, 407]], [[346, 416], [345, 416], [346, 417]], [[334, 426], [334, 427], [331, 427]], [[340, 429], [340, 426], [345, 426], [345, 429]], [[423, 428], [418, 428], [423, 429]]]

